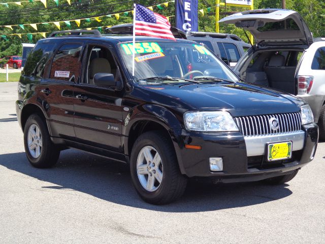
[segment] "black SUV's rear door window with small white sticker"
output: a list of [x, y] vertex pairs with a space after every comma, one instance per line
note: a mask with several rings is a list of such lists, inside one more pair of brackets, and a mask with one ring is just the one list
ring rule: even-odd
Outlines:
[[82, 44], [64, 44], [53, 57], [50, 79], [75, 82], [81, 73]]

